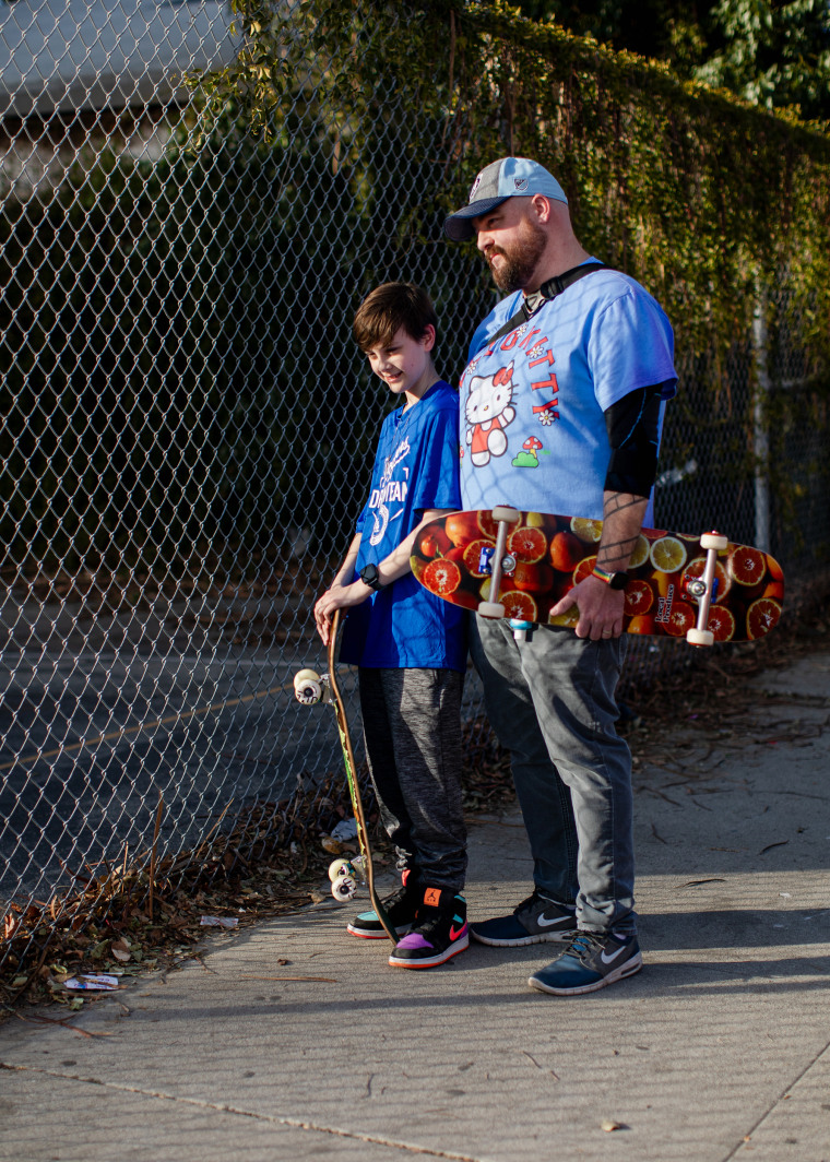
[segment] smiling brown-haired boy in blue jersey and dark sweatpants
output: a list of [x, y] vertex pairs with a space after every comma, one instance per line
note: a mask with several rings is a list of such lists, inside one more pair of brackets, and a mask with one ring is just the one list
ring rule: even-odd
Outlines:
[[[401, 968], [443, 964], [468, 945], [460, 895], [464, 612], [423, 589], [409, 568], [421, 525], [460, 508], [458, 394], [432, 364], [436, 323], [429, 296], [410, 284], [386, 282], [358, 308], [358, 346], [403, 403], [384, 421], [356, 536], [314, 608], [323, 643], [335, 609], [351, 611], [341, 659], [358, 666], [370, 774], [402, 871], [402, 885], [384, 901], [402, 937], [389, 964]], [[348, 931], [385, 934], [374, 912]]]

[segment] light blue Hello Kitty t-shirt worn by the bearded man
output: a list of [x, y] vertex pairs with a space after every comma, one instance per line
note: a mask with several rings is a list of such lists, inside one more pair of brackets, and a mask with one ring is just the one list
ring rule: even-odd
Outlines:
[[604, 413], [638, 387], [674, 395], [671, 324], [638, 282], [603, 270], [489, 343], [521, 303], [521, 292], [500, 302], [470, 345], [459, 385], [464, 508], [601, 518]]

